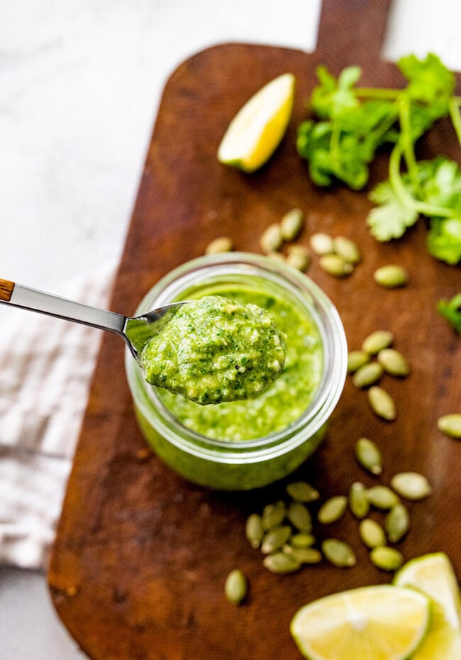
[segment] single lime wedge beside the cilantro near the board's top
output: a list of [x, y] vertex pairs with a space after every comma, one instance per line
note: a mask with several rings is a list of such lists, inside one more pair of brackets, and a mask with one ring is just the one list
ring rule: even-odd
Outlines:
[[218, 160], [244, 172], [264, 165], [287, 131], [293, 109], [294, 75], [265, 84], [238, 111], [218, 148]]

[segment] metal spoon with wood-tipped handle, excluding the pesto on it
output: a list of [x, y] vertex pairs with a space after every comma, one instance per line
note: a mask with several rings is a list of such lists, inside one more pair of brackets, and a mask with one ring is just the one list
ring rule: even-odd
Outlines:
[[139, 362], [141, 348], [159, 330], [158, 324], [155, 326], [156, 321], [186, 301], [163, 305], [139, 317], [124, 317], [123, 314], [90, 307], [81, 302], [30, 289], [30, 287], [0, 278], [0, 302], [11, 304], [13, 307], [29, 309], [31, 312], [40, 312], [58, 319], [115, 332], [126, 341], [131, 353]]

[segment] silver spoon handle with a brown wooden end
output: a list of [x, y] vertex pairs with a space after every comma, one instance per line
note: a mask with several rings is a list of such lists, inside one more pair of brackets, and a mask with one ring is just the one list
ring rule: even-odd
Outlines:
[[[1, 278], [0, 303], [11, 304], [14, 307], [48, 314], [51, 317], [82, 323], [101, 330], [110, 330], [121, 336], [123, 336], [123, 328], [126, 323], [126, 317], [123, 317], [122, 314], [90, 307], [81, 302], [30, 289], [30, 287], [24, 287]], [[123, 339], [125, 338], [123, 337]]]

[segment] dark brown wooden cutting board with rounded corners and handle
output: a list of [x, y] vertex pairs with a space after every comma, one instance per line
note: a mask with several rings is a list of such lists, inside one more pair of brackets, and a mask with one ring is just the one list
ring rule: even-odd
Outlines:
[[[350, 348], [387, 328], [412, 373], [384, 379], [398, 402], [392, 424], [374, 417], [365, 393], [348, 380], [326, 440], [296, 476], [324, 497], [345, 493], [357, 479], [371, 485], [352, 456], [357, 438], [371, 437], [384, 453], [382, 481], [409, 469], [433, 484], [426, 502], [410, 506], [411, 533], [399, 546], [404, 555], [446, 551], [461, 577], [461, 443], [436, 428], [441, 414], [460, 409], [461, 341], [435, 312], [440, 297], [460, 290], [460, 269], [428, 255], [422, 221], [401, 241], [374, 241], [365, 227], [365, 192], [313, 187], [294, 149], [318, 63], [335, 74], [361, 65], [364, 85], [403, 84], [379, 54], [388, 9], [382, 0], [326, 0], [315, 53], [226, 44], [179, 66], [162, 97], [111, 309], [133, 312], [154, 282], [203, 254], [216, 236], [258, 252], [263, 229], [292, 207], [306, 212], [301, 243], [315, 231], [355, 238], [364, 258], [348, 279], [326, 275], [315, 258], [309, 275], [337, 305]], [[220, 165], [216, 149], [230, 119], [284, 72], [296, 75], [296, 102], [277, 153], [254, 175]], [[459, 159], [448, 122], [421, 145], [421, 155], [437, 153]], [[370, 186], [386, 176], [386, 163], [383, 157], [373, 166]], [[408, 268], [408, 287], [374, 284], [374, 269], [391, 262]], [[135, 423], [123, 351], [118, 338], [104, 336], [52, 553], [48, 579], [62, 621], [94, 660], [299, 659], [289, 622], [301, 605], [391, 577], [370, 564], [349, 515], [324, 533], [351, 542], [354, 568], [325, 562], [294, 576], [262, 568], [260, 554], [245, 541], [245, 517], [282, 495], [283, 485], [264, 493], [210, 493], [165, 468]], [[248, 602], [238, 608], [223, 596], [235, 567], [250, 580]]]

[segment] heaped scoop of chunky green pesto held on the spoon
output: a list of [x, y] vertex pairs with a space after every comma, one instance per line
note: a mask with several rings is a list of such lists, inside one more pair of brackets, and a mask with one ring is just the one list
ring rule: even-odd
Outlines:
[[284, 360], [283, 336], [265, 309], [218, 295], [183, 304], [140, 353], [148, 383], [199, 405], [257, 397]]

